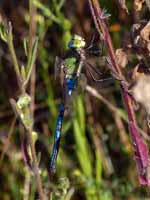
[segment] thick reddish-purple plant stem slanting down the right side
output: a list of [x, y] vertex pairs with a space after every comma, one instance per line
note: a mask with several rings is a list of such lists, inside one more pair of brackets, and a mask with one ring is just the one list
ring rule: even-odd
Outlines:
[[139, 172], [139, 181], [142, 185], [150, 185], [150, 180], [148, 178], [148, 148], [147, 145], [143, 142], [137, 129], [135, 113], [132, 105], [132, 98], [127, 91], [126, 85], [124, 84], [126, 83], [125, 77], [123, 76], [121, 69], [117, 63], [111, 37], [106, 26], [105, 19], [102, 17], [103, 13], [100, 8], [99, 2], [97, 0], [88, 1], [96, 29], [100, 37], [105, 41], [105, 45], [108, 50], [108, 54], [111, 60], [110, 69], [112, 73], [115, 74], [116, 77], [118, 77], [121, 87], [121, 93], [129, 119], [129, 131], [135, 151], [135, 160]]

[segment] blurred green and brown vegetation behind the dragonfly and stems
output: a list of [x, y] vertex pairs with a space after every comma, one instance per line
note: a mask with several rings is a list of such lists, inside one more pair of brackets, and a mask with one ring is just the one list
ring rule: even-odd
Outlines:
[[[117, 0], [100, 2], [111, 14], [107, 24], [116, 49], [130, 41], [134, 23], [149, 19], [145, 4], [137, 13], [134, 1], [126, 1], [127, 14]], [[117, 81], [107, 84], [88, 79], [88, 85], [100, 94], [99, 99], [86, 90], [74, 97], [71, 112], [65, 115], [63, 123], [56, 175], [53, 182], [49, 181], [47, 168], [62, 94], [60, 82], [54, 77], [55, 57], [66, 50], [73, 34], [81, 35], [90, 43], [96, 30], [86, 0], [34, 0], [34, 6], [39, 37], [34, 70], [34, 130], [38, 133], [35, 147], [48, 199], [149, 199], [146, 189], [138, 183], [127, 116]], [[3, 20], [12, 22], [15, 51], [22, 65], [26, 62], [23, 40], [29, 34], [29, 2], [0, 1], [0, 21]], [[98, 64], [99, 58], [89, 60], [107, 77], [111, 76], [106, 66]], [[125, 72], [132, 70], [136, 63], [137, 59], [132, 56]], [[34, 81], [28, 87], [31, 97], [32, 83]], [[18, 85], [8, 47], [2, 41], [0, 91], [0, 199], [37, 199], [36, 181], [24, 162], [21, 149], [21, 140], [26, 134], [19, 120], [15, 122], [9, 103], [10, 98], [17, 97]], [[111, 109], [106, 100], [120, 114]], [[143, 111], [137, 116], [143, 129], [146, 128], [144, 116]]]

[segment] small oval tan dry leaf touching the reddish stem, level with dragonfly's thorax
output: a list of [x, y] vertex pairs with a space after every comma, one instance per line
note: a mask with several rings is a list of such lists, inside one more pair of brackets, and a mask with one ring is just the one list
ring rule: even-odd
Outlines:
[[117, 49], [116, 50], [116, 57], [117, 57], [117, 62], [120, 67], [125, 68], [126, 65], [128, 64], [128, 58], [127, 54], [123, 49]]

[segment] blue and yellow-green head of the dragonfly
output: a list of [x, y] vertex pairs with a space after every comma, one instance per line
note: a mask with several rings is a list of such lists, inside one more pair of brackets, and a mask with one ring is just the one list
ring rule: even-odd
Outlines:
[[84, 48], [85, 45], [86, 42], [84, 38], [82, 38], [80, 35], [74, 35], [73, 38], [68, 43], [68, 47], [72, 49], [81, 49]]

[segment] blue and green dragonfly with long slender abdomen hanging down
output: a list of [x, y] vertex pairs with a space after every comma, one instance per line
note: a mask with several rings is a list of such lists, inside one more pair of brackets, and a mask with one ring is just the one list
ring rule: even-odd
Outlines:
[[[94, 47], [94, 49], [93, 49]], [[56, 57], [55, 60], [55, 76], [59, 75], [62, 85], [63, 98], [62, 103], [59, 106], [58, 117], [56, 122], [56, 130], [54, 135], [54, 144], [52, 155], [50, 159], [50, 175], [54, 175], [56, 172], [56, 160], [59, 151], [61, 129], [63, 124], [63, 118], [65, 110], [68, 108], [70, 99], [76, 90], [78, 83], [83, 76], [83, 66], [86, 66], [89, 74], [94, 81], [104, 81], [104, 79], [96, 79], [93, 73], [102, 75], [93, 65], [87, 62], [86, 54], [99, 55], [100, 49], [94, 46], [94, 38], [91, 44], [86, 47], [85, 39], [79, 35], [74, 35], [68, 43], [68, 51], [62, 56], [62, 58]], [[92, 50], [93, 49], [93, 50]]]

